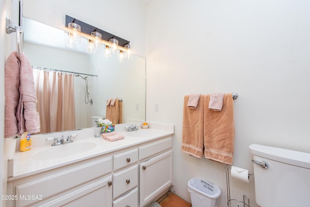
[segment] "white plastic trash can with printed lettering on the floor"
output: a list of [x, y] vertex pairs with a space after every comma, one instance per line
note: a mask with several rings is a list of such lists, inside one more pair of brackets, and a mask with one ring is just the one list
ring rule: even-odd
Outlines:
[[192, 207], [217, 207], [221, 190], [216, 185], [198, 177], [190, 179], [187, 185]]

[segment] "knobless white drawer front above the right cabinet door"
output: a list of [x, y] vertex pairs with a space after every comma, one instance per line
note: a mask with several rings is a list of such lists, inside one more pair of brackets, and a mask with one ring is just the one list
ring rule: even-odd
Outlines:
[[146, 146], [139, 147], [139, 160], [163, 152], [172, 147], [172, 138], [167, 138]]

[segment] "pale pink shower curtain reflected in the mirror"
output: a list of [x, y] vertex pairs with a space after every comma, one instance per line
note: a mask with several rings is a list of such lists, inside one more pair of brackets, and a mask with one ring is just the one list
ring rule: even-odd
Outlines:
[[40, 133], [76, 127], [73, 74], [33, 70]]

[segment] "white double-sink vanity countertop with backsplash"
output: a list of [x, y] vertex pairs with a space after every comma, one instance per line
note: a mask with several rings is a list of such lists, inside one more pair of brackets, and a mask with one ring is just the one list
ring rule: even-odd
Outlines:
[[[141, 124], [141, 123], [138, 123]], [[148, 129], [142, 129], [139, 127], [138, 131], [148, 131], [148, 135], [146, 136], [130, 136], [126, 130], [124, 130], [124, 126], [128, 126], [128, 124], [115, 125], [115, 131], [124, 134], [124, 139], [116, 140], [113, 142], [109, 142], [107, 140], [102, 139], [101, 137], [95, 138], [93, 136], [93, 128], [82, 129], [82, 130], [74, 130], [70, 132], [60, 132], [49, 135], [37, 135], [31, 136], [31, 150], [26, 152], [19, 152], [16, 150], [14, 153], [14, 164], [13, 164], [13, 176], [8, 178], [8, 181], [15, 180], [18, 178], [26, 177], [29, 175], [34, 175], [37, 173], [41, 173], [47, 170], [51, 170], [54, 168], [58, 168], [64, 165], [68, 165], [74, 162], [78, 162], [85, 159], [90, 159], [96, 156], [108, 154], [110, 152], [114, 152], [116, 150], [124, 149], [130, 146], [134, 146], [140, 143], [149, 142], [161, 137], [169, 136], [174, 134], [174, 127], [156, 123], [149, 123], [150, 127]], [[70, 134], [77, 134], [78, 136], [73, 137], [73, 143], [67, 143], [59, 146], [51, 146], [53, 141], [45, 141], [47, 137], [58, 137], [60, 138], [62, 135], [64, 137]], [[140, 132], [139, 132], [140, 133]], [[86, 151], [79, 152], [78, 154], [66, 155], [63, 157], [59, 157], [57, 154], [57, 150], [66, 150], [70, 144], [76, 143], [85, 143]], [[92, 144], [94, 147], [87, 150], [86, 143], [94, 143]], [[76, 144], [83, 146], [83, 144]], [[17, 144], [16, 144], [17, 146]], [[18, 146], [17, 146], [18, 147]], [[50, 150], [51, 156], [46, 159], [40, 158], [37, 153], [42, 153], [43, 151]], [[45, 153], [45, 152], [43, 152]]]

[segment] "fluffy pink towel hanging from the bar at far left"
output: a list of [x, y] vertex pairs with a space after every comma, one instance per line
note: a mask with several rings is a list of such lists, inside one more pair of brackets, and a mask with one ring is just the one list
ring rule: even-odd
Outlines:
[[12, 52], [5, 64], [5, 137], [40, 131], [33, 71], [27, 57]]

